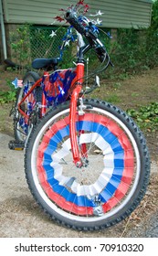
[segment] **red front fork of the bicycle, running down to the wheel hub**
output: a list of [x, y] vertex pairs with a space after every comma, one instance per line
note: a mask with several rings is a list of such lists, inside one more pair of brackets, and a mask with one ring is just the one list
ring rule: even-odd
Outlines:
[[[71, 152], [72, 152], [74, 164], [77, 167], [81, 167], [83, 165], [82, 156], [83, 155], [85, 156], [87, 152], [86, 144], [82, 144], [79, 150], [79, 142], [78, 142], [77, 129], [76, 129], [77, 103], [79, 101], [79, 94], [82, 90], [83, 76], [84, 76], [84, 64], [78, 63], [77, 79], [76, 79], [77, 87], [72, 92], [71, 101], [70, 101], [70, 112], [69, 112], [69, 132], [70, 132]], [[80, 131], [79, 133], [83, 133], [83, 131]]]

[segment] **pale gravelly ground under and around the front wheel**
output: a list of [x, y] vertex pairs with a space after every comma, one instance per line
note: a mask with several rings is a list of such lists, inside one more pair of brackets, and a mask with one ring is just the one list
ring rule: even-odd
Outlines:
[[[11, 151], [7, 144], [12, 137], [0, 133], [0, 237], [121, 237], [127, 221], [95, 232], [83, 232], [59, 226], [47, 218], [31, 196], [24, 173], [24, 152]], [[158, 173], [155, 163], [152, 172]], [[126, 237], [158, 237], [158, 212], [145, 225], [131, 226]]]

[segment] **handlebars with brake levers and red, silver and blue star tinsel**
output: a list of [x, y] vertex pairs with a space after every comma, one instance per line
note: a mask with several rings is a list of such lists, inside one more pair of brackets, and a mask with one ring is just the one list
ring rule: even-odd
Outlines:
[[[87, 51], [90, 50], [90, 48], [94, 49], [98, 59], [100, 59], [100, 62], [102, 64], [101, 68], [99, 70], [96, 70], [97, 73], [99, 73], [104, 69], [107, 69], [110, 64], [111, 66], [113, 65], [111, 63], [111, 59], [106, 48], [100, 42], [100, 39], [99, 39], [100, 28], [97, 27], [96, 25], [97, 24], [100, 25], [100, 22], [91, 20], [87, 16], [85, 16], [88, 10], [89, 10], [89, 5], [85, 4], [84, 1], [79, 1], [77, 5], [71, 5], [66, 10], [60, 9], [60, 11], [62, 11], [63, 14], [61, 16], [56, 16], [55, 18], [59, 22], [66, 20], [70, 25], [70, 27], [68, 27], [68, 32], [63, 39], [66, 44], [67, 44], [67, 40], [69, 41], [71, 38], [74, 39], [74, 37], [71, 34], [72, 27], [74, 27], [81, 36], [86, 38], [86, 40], [88, 41], [88, 45], [82, 48], [82, 53], [84, 55]], [[101, 14], [100, 12], [98, 13], [99, 15]], [[109, 37], [109, 35], [107, 35], [105, 32], [104, 34]], [[54, 32], [53, 32], [53, 35], [55, 35]], [[64, 44], [61, 47], [61, 52], [63, 48], [64, 48]], [[107, 60], [107, 65], [105, 65], [105, 60]]]

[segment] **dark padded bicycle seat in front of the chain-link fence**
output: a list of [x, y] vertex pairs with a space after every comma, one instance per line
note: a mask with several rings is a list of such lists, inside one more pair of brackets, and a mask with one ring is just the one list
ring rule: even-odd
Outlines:
[[39, 58], [34, 59], [32, 62], [32, 68], [33, 69], [55, 69], [55, 67], [58, 65], [58, 58], [53, 59], [45, 59], [45, 58]]

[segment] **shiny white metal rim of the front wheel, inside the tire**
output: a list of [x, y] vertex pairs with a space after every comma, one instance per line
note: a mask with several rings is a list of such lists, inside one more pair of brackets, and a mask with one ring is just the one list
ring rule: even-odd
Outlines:
[[116, 208], [113, 208], [111, 211], [105, 213], [103, 216], [100, 217], [92, 217], [92, 218], [88, 218], [88, 217], [80, 217], [77, 215], [73, 215], [73, 214], [69, 214], [68, 212], [66, 212], [65, 210], [58, 208], [45, 194], [45, 192], [43, 191], [42, 187], [39, 184], [39, 180], [37, 177], [37, 169], [36, 169], [36, 155], [37, 155], [37, 147], [38, 147], [38, 143], [43, 135], [43, 133], [47, 130], [47, 127], [50, 126], [51, 123], [53, 123], [53, 121], [58, 118], [60, 115], [63, 115], [65, 113], [68, 113], [69, 109], [64, 110], [62, 112], [58, 112], [55, 116], [51, 117], [47, 123], [41, 128], [41, 130], [39, 131], [39, 133], [37, 133], [37, 138], [35, 140], [35, 143], [33, 145], [33, 149], [32, 149], [32, 154], [31, 154], [31, 170], [32, 170], [32, 176], [34, 179], [34, 183], [35, 186], [37, 187], [37, 191], [40, 195], [40, 197], [42, 197], [42, 199], [45, 201], [45, 203], [47, 203], [47, 206], [49, 208], [52, 208], [54, 211], [56, 211], [56, 213], [58, 213], [58, 215], [67, 218], [67, 219], [71, 219], [71, 220], [78, 220], [79, 222], [95, 222], [95, 221], [99, 221], [102, 219], [108, 219], [111, 216], [113, 216], [114, 214], [117, 214], [119, 211], [121, 211], [122, 208], [125, 207], [125, 205], [130, 201], [130, 199], [132, 198], [137, 186], [138, 186], [138, 182], [139, 182], [139, 177], [140, 177], [140, 172], [141, 172], [141, 159], [140, 159], [140, 154], [137, 148], [137, 144], [135, 143], [135, 140], [132, 136], [132, 133], [129, 131], [129, 129], [125, 126], [124, 123], [121, 122], [120, 119], [118, 119], [116, 116], [114, 116], [113, 114], [111, 114], [110, 112], [107, 112], [105, 110], [101, 110], [100, 108], [96, 108], [93, 107], [93, 112], [100, 112], [102, 114], [106, 114], [107, 116], [109, 116], [112, 120], [114, 120], [116, 123], [119, 123], [121, 128], [128, 134], [129, 138], [131, 139], [132, 142], [132, 146], [134, 148], [134, 153], [135, 153], [135, 158], [136, 158], [136, 175], [134, 178], [134, 182], [132, 184], [132, 189], [130, 191], [130, 193], [128, 194], [128, 196], [121, 202], [121, 205], [118, 205]]

